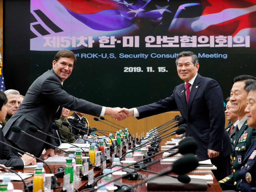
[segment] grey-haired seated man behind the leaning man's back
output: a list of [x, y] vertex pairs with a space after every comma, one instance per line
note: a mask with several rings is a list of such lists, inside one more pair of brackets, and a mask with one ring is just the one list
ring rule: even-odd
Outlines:
[[18, 110], [21, 101], [20, 101], [20, 92], [9, 89], [4, 92], [7, 96], [8, 102], [6, 104], [7, 107], [7, 115], [5, 119], [0, 123], [0, 127], [3, 129], [8, 120], [12, 117], [12, 115]]

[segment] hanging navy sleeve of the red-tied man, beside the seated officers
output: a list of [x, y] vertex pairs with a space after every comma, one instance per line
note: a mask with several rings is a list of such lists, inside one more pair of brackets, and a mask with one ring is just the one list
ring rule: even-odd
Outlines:
[[[205, 88], [205, 100], [210, 116], [210, 133], [208, 149], [222, 151], [225, 130], [225, 113], [222, 90], [219, 84], [211, 79]], [[224, 132], [225, 131], [225, 132]]]

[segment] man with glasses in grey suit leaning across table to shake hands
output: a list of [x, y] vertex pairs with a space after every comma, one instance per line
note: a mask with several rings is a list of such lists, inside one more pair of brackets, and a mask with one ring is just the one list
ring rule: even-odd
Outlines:
[[[72, 73], [76, 57], [70, 50], [60, 50], [52, 62], [52, 70], [48, 70], [38, 77], [28, 89], [22, 105], [6, 123], [3, 132], [6, 142], [24, 151], [40, 156], [46, 148], [46, 157], [54, 156], [54, 148], [43, 142], [31, 138], [25, 134], [17, 134], [11, 131], [12, 126], [19, 126], [24, 132], [41, 140], [55, 144], [54, 139], [40, 133], [30, 132], [30, 125], [36, 126], [44, 133], [53, 135], [50, 124], [54, 118], [60, 118], [62, 107], [79, 111], [93, 116], [110, 115], [113, 118], [123, 120], [127, 118], [124, 112], [118, 112], [120, 108], [103, 107], [86, 100], [78, 99], [63, 90], [63, 82]], [[17, 154], [15, 150], [12, 153]]]

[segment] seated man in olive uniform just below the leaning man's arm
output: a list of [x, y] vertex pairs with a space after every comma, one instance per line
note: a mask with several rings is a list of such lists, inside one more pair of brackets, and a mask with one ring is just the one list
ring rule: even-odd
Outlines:
[[[67, 117], [68, 117], [69, 112], [70, 112], [69, 109], [66, 109], [63, 107], [62, 113], [61, 113], [61, 118], [59, 120], [56, 120], [55, 123], [58, 126], [60, 126], [60, 128], [62, 128], [63, 130], [72, 133], [72, 128], [70, 126], [66, 127], [66, 126], [62, 125], [62, 121], [68, 122]], [[66, 141], [68, 143], [74, 143], [76, 141], [75, 136], [68, 134], [67, 132], [60, 130], [60, 132], [58, 132], [57, 134], [60, 133], [59, 134], [60, 139]]]

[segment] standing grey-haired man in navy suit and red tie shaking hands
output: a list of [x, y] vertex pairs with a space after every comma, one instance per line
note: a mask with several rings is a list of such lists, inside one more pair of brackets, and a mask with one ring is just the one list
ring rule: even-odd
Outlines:
[[217, 170], [213, 170], [216, 179], [228, 176], [232, 147], [224, 128], [221, 88], [215, 80], [198, 74], [198, 57], [193, 52], [178, 54], [176, 66], [185, 84], [176, 86], [170, 97], [153, 104], [122, 110], [127, 116], [142, 119], [178, 108], [188, 125], [186, 137], [192, 136], [198, 142], [196, 155], [199, 160], [211, 159], [217, 167]]

